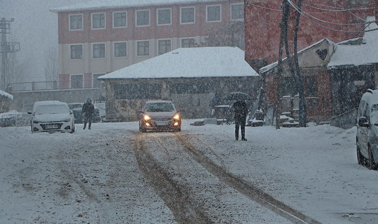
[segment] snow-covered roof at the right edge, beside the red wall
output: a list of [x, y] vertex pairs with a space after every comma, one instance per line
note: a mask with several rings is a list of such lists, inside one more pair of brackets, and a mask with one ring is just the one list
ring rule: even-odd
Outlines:
[[[375, 16], [369, 16], [367, 21], [375, 21]], [[369, 24], [366, 30], [377, 29], [375, 22]], [[338, 66], [359, 66], [378, 64], [378, 30], [365, 32], [361, 44], [336, 44], [336, 50], [327, 65], [328, 69]]]

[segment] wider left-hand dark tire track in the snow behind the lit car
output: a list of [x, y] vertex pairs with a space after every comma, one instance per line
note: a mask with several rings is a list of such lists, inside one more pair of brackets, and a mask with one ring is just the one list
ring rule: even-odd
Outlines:
[[143, 176], [174, 214], [178, 223], [212, 224], [198, 203], [194, 203], [186, 186], [177, 184], [145, 147], [144, 134], [135, 135], [134, 152]]

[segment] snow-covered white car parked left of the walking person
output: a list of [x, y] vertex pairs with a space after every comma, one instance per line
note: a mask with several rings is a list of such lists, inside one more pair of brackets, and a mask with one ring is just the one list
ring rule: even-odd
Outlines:
[[31, 132], [75, 132], [75, 117], [67, 103], [38, 101], [30, 120]]

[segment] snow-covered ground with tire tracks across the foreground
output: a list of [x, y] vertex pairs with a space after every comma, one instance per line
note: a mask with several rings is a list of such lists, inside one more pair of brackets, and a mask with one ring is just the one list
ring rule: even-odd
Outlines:
[[358, 165], [355, 127], [246, 127], [235, 141], [233, 125], [193, 122], [0, 127], [0, 223], [377, 223], [378, 171]]

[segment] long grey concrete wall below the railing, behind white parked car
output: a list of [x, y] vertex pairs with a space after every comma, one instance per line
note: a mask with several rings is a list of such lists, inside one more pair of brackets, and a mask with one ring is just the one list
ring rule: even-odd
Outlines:
[[17, 112], [27, 112], [26, 105], [33, 104], [36, 101], [62, 101], [66, 103], [82, 103], [86, 102], [87, 98], [92, 101], [100, 100], [105, 97], [104, 89], [75, 89], [75, 90], [50, 90], [50, 91], [27, 91], [27, 92], [12, 92], [13, 101], [11, 105], [12, 110]]

